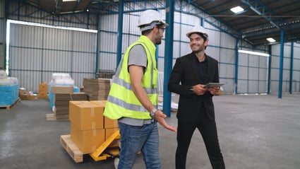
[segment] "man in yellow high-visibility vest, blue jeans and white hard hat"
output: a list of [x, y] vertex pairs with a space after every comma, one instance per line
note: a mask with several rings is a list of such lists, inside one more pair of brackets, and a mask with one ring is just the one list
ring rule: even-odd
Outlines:
[[104, 116], [119, 122], [119, 169], [133, 168], [139, 151], [146, 168], [161, 168], [157, 122], [176, 132], [157, 110], [155, 45], [161, 44], [167, 25], [157, 11], [143, 11], [138, 20], [142, 35], [128, 47], [112, 80]]

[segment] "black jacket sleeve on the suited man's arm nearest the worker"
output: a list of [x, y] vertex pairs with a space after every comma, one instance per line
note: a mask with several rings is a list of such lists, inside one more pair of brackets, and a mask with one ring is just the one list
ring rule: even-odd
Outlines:
[[181, 80], [183, 77], [184, 62], [182, 62], [181, 59], [177, 58], [169, 78], [168, 90], [170, 92], [184, 95], [190, 98], [193, 95], [193, 91], [191, 91], [192, 86], [181, 84]]

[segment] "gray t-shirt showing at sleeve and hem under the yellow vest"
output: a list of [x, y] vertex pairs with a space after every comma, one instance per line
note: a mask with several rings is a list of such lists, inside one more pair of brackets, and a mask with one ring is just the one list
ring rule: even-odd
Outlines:
[[[144, 67], [144, 73], [145, 69], [147, 68], [147, 54], [145, 52], [145, 49], [142, 45], [135, 45], [131, 48], [128, 54], [128, 68], [130, 65], [137, 65], [137, 66], [143, 66]], [[153, 122], [153, 120], [138, 120], [138, 119], [132, 119], [128, 117], [122, 117], [118, 120], [121, 123], [132, 125], [132, 126], [143, 126], [144, 124], [150, 124]]]

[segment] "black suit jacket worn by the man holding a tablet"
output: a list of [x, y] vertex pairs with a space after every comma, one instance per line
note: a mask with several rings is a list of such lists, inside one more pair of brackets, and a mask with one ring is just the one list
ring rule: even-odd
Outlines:
[[[193, 121], [198, 119], [200, 113], [207, 113], [210, 120], [215, 120], [213, 95], [209, 91], [206, 91], [204, 95], [196, 95], [191, 91], [191, 86], [200, 83], [200, 70], [197, 67], [195, 57], [196, 55], [192, 52], [177, 58], [169, 78], [168, 90], [180, 95], [176, 116], [178, 120]], [[208, 59], [208, 74], [205, 84], [209, 82], [219, 83], [217, 60], [206, 54], [205, 57]]]

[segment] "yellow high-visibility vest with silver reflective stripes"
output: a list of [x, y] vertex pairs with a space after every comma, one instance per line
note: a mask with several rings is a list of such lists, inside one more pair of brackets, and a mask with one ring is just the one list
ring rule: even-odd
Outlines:
[[142, 45], [147, 54], [148, 64], [143, 75], [142, 86], [148, 94], [150, 102], [157, 107], [158, 71], [155, 59], [156, 47], [148, 37], [141, 35], [139, 40], [126, 50], [112, 80], [112, 86], [104, 108], [104, 116], [113, 120], [121, 117], [140, 120], [151, 119], [150, 113], [143, 107], [131, 89], [131, 80], [128, 73], [128, 53], [134, 45]]

